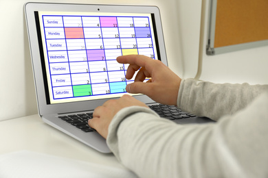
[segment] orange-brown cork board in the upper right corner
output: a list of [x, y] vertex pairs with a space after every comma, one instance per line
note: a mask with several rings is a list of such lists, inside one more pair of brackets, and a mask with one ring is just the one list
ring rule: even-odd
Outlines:
[[268, 0], [212, 0], [211, 3], [208, 42], [211, 49], [227, 49], [238, 44], [243, 44], [241, 49], [249, 48], [246, 43], [254, 44], [252, 47], [268, 44]]

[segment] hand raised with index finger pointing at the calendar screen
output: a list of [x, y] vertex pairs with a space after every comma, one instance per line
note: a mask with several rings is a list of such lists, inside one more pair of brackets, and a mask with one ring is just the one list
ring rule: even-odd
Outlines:
[[[166, 105], [176, 105], [181, 78], [159, 60], [144, 55], [123, 55], [117, 58], [119, 63], [130, 64], [126, 79], [131, 79], [136, 71], [135, 82], [126, 86], [126, 92], [142, 93]], [[144, 79], [150, 78], [146, 83]]]

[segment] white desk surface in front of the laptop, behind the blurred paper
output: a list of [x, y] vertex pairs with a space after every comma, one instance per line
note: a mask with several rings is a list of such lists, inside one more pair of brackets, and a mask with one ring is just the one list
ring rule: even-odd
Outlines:
[[99, 153], [87, 147], [65, 133], [43, 123], [37, 114], [1, 121], [0, 140], [0, 155], [27, 150], [124, 168], [112, 153]]

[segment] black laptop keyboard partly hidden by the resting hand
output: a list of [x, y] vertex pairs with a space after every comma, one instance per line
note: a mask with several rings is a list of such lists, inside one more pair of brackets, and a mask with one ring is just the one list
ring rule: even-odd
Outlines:
[[[151, 110], [154, 110], [161, 118], [167, 118], [169, 120], [177, 120], [181, 118], [191, 118], [195, 117], [193, 114], [188, 112], [183, 112], [179, 110], [175, 105], [150, 105]], [[67, 123], [74, 125], [74, 127], [85, 131], [96, 131], [95, 129], [89, 127], [87, 121], [93, 118], [93, 112], [84, 114], [71, 114], [66, 116], [58, 116], [61, 120], [65, 120]]]

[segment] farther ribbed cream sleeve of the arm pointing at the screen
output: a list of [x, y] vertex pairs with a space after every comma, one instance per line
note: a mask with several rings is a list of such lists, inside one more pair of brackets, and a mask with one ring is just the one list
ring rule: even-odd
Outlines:
[[243, 109], [265, 90], [268, 90], [267, 85], [213, 84], [184, 79], [179, 88], [177, 106], [197, 116], [218, 120]]

